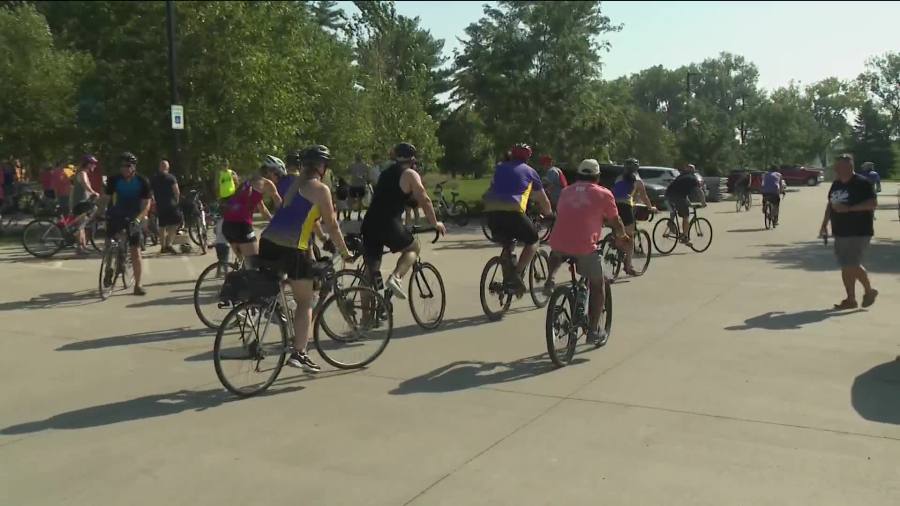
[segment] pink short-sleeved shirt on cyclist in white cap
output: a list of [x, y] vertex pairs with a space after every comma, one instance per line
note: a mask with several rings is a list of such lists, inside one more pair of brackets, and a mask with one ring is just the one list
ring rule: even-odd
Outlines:
[[559, 194], [550, 247], [568, 255], [593, 253], [603, 222], [618, 216], [616, 199], [606, 188], [587, 181], [567, 186]]

